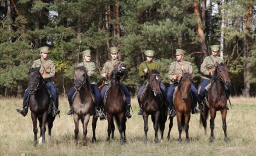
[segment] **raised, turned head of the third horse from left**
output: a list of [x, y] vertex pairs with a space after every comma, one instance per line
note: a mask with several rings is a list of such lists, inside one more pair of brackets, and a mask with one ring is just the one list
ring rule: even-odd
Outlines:
[[120, 61], [115, 64], [114, 70], [110, 73], [109, 80], [120, 80], [124, 73], [126, 73], [126, 64]]

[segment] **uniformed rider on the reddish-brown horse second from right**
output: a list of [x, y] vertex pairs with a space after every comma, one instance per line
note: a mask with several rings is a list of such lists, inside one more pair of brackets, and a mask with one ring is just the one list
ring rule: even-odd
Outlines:
[[[173, 105], [173, 93], [176, 86], [178, 86], [179, 80], [182, 76], [182, 70], [185, 70], [185, 72], [193, 73], [193, 67], [191, 66], [191, 63], [188, 61], [184, 61], [184, 55], [186, 52], [182, 49], [176, 49], [176, 60], [173, 63], [171, 63], [169, 72], [168, 72], [168, 78], [171, 80], [170, 87], [168, 88], [167, 92], [167, 100], [168, 103], [171, 105], [171, 112], [174, 112], [174, 116], [176, 115], [176, 112], [174, 110]], [[193, 102], [192, 102], [192, 109], [191, 113], [200, 113], [199, 110], [196, 109], [197, 99], [198, 99], [198, 93], [196, 87], [194, 87], [194, 84], [191, 84], [190, 91], [193, 96]]]

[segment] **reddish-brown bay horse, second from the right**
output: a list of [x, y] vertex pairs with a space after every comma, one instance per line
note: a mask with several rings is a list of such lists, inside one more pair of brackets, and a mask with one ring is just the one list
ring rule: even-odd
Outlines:
[[[174, 107], [176, 110], [178, 130], [179, 130], [179, 143], [181, 143], [181, 133], [184, 129], [186, 133], [185, 142], [190, 142], [190, 137], [188, 135], [189, 122], [190, 122], [190, 112], [192, 105], [192, 94], [190, 92], [191, 84], [193, 82], [193, 73], [187, 73], [182, 70], [181, 81], [179, 81], [176, 87], [176, 92], [174, 93]], [[173, 117], [170, 117], [169, 131], [167, 140], [170, 139], [170, 131], [173, 126]]]

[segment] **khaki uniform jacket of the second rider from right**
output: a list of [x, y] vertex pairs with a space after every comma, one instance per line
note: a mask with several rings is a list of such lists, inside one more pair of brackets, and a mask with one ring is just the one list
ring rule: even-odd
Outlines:
[[[168, 71], [168, 79], [170, 79], [170, 84], [178, 83], [182, 76], [182, 66], [185, 72], [192, 73], [193, 67], [188, 61], [174, 61], [171, 63]], [[173, 75], [178, 75], [177, 80], [173, 80]]]

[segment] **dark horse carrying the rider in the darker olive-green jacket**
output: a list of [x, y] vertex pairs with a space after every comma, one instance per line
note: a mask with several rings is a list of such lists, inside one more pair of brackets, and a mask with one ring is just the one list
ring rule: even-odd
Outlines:
[[158, 143], [158, 129], [161, 131], [161, 140], [164, 137], [165, 122], [167, 110], [164, 104], [160, 84], [160, 70], [149, 70], [149, 83], [141, 94], [142, 117], [144, 120], [144, 142], [147, 142], [147, 131], [149, 130], [148, 118], [151, 115], [153, 127], [155, 129], [155, 143]]

